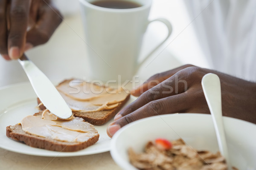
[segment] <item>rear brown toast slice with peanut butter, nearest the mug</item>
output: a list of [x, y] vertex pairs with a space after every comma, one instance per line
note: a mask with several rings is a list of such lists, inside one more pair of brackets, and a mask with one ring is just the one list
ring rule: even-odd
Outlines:
[[[64, 80], [56, 88], [73, 115], [92, 125], [108, 122], [130, 98], [126, 89], [114, 89], [79, 79]], [[38, 107], [46, 109], [39, 99]]]

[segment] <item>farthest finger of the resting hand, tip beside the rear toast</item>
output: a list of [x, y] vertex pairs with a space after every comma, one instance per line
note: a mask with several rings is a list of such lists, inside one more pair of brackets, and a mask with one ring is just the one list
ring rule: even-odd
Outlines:
[[158, 85], [160, 82], [163, 82], [164, 80], [173, 76], [178, 71], [180, 71], [184, 68], [187, 68], [187, 67], [192, 67], [192, 66], [194, 66], [194, 65], [190, 65], [190, 64], [182, 65], [178, 68], [175, 68], [175, 69], [172, 69], [172, 70], [169, 70], [169, 71], [165, 71], [163, 73], [155, 74], [155, 75], [151, 76], [147, 81], [145, 81], [143, 83], [143, 85], [140, 85], [138, 88], [132, 90], [131, 94], [134, 95], [134, 96], [140, 96], [141, 94], [143, 94], [148, 89]]

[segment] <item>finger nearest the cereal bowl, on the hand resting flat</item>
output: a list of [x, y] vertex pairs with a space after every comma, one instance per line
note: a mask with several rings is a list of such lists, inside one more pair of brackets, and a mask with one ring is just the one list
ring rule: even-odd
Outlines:
[[186, 93], [149, 102], [136, 111], [111, 123], [107, 128], [108, 136], [112, 137], [121, 127], [138, 119], [161, 114], [184, 112], [186, 109], [191, 108], [192, 102], [191, 97]]

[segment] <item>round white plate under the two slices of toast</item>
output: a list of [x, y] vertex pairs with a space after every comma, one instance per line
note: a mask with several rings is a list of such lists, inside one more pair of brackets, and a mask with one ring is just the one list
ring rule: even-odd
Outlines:
[[[0, 147], [17, 153], [36, 156], [81, 156], [95, 153], [107, 152], [110, 150], [110, 139], [106, 133], [106, 128], [110, 120], [105, 125], [95, 126], [99, 132], [99, 141], [84, 150], [76, 152], [57, 152], [34, 147], [9, 139], [6, 136], [6, 127], [16, 125], [23, 117], [38, 112], [36, 94], [29, 82], [9, 85], [0, 88]], [[136, 98], [131, 96], [126, 103], [133, 102]]]

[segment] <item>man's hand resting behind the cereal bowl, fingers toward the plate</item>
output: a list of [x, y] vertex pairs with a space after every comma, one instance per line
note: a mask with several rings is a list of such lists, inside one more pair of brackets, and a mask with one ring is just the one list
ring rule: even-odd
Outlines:
[[115, 116], [107, 129], [109, 136], [138, 119], [169, 113], [210, 113], [201, 79], [207, 73], [221, 80], [224, 116], [256, 123], [256, 83], [217, 71], [184, 65], [156, 74], [131, 93], [140, 96]]

